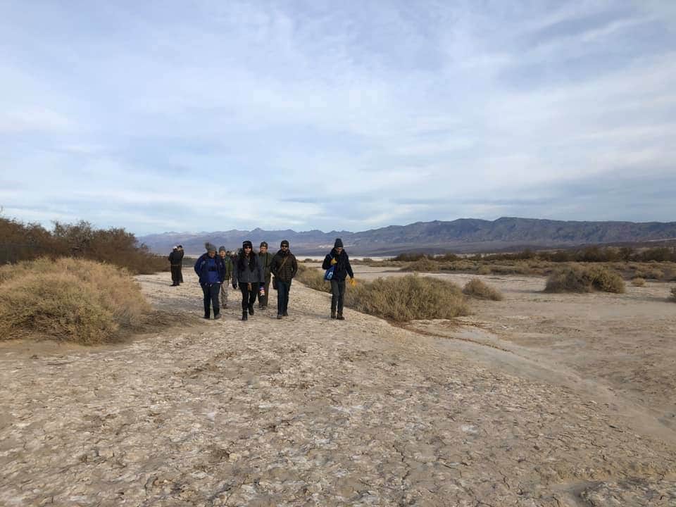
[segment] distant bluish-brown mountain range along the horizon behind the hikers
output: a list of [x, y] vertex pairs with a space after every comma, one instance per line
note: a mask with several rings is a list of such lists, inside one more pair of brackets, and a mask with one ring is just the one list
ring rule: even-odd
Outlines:
[[416, 222], [409, 225], [389, 225], [362, 232], [310, 230], [221, 232], [164, 232], [139, 237], [139, 242], [156, 253], [168, 253], [175, 244], [182, 244], [188, 254], [204, 251], [204, 242], [236, 249], [245, 239], [254, 246], [261, 241], [276, 251], [282, 239], [288, 239], [292, 251], [303, 255], [320, 255], [342, 238], [352, 255], [385, 256], [403, 251], [477, 252], [514, 248], [556, 248], [582, 244], [649, 242], [676, 239], [676, 222], [576, 222], [538, 218], [503, 217], [497, 220], [459, 218], [444, 222]]

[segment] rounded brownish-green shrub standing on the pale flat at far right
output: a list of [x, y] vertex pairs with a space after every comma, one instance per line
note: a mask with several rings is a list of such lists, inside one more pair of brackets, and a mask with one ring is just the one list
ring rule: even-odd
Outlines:
[[603, 266], [583, 267], [568, 265], [553, 270], [545, 287], [545, 292], [625, 292], [622, 277]]

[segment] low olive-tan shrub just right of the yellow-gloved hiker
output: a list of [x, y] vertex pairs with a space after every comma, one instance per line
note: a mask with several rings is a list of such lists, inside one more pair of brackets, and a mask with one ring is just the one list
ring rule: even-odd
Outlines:
[[448, 319], [469, 313], [458, 285], [417, 275], [358, 283], [346, 290], [345, 304], [357, 311], [398, 322]]

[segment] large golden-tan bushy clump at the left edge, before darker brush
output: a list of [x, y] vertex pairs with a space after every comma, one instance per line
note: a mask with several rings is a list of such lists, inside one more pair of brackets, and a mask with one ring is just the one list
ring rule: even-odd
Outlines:
[[0, 339], [40, 337], [97, 344], [141, 323], [150, 310], [126, 270], [75, 258], [0, 268]]

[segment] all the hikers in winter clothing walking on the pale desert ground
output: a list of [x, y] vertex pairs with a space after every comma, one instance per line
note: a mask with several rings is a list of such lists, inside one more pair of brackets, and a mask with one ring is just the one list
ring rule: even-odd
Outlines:
[[[220, 318], [221, 304], [227, 308], [228, 285], [232, 282], [232, 289], [239, 287], [242, 292], [242, 320], [248, 320], [249, 315], [254, 313], [256, 299], [258, 308], [267, 308], [271, 280], [273, 289], [277, 291], [277, 318], [289, 315], [289, 292], [292, 280], [298, 273], [298, 261], [289, 250], [286, 239], [280, 243], [275, 255], [268, 251], [267, 242], [261, 242], [258, 253], [253, 251], [253, 243], [249, 240], [243, 242], [237, 252], [230, 252], [225, 246], [220, 246], [217, 254], [213, 244], [206, 243], [204, 246], [206, 252], [194, 265], [204, 293], [204, 318], [211, 318], [212, 311], [214, 319]], [[183, 247], [175, 246], [169, 254], [173, 287], [183, 282], [180, 269], [182, 259]], [[336, 239], [333, 249], [327, 253], [322, 267], [327, 270], [325, 279], [331, 283], [331, 318], [344, 320], [345, 280], [349, 275], [353, 282], [354, 273], [340, 238]]]

